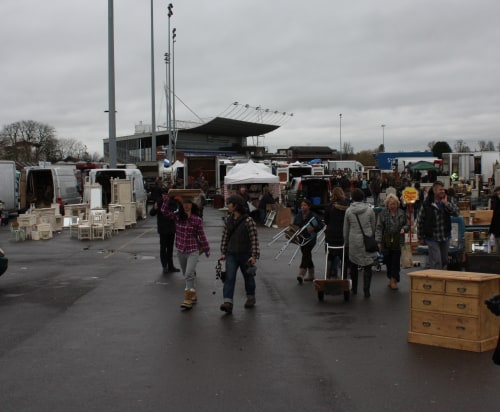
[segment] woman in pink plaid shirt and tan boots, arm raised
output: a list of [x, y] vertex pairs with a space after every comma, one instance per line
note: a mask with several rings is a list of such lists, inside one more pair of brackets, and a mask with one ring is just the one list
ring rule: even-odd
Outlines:
[[182, 207], [179, 208], [178, 213], [174, 213], [168, 208], [168, 202], [163, 202], [161, 211], [166, 217], [175, 216], [175, 247], [182, 274], [186, 279], [181, 308], [191, 309], [193, 304], [198, 301], [196, 265], [199, 256], [202, 253], [205, 253], [206, 257], [210, 256], [210, 245], [203, 229], [203, 220], [197, 214], [198, 206], [189, 198], [183, 199]]

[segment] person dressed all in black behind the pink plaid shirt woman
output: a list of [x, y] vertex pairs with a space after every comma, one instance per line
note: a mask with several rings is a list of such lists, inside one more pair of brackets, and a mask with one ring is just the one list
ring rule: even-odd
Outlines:
[[[161, 206], [165, 199], [168, 199], [168, 207], [170, 210], [176, 210], [178, 204], [174, 199], [168, 197], [168, 190], [160, 190], [160, 198], [154, 203], [153, 207], [149, 211], [151, 216], [156, 215], [158, 224], [158, 234], [160, 235], [160, 261], [163, 267], [163, 273], [179, 272], [174, 266], [173, 252], [174, 252], [174, 241], [175, 241], [175, 220], [169, 217], [165, 217], [161, 213]], [[159, 213], [158, 213], [159, 212]]]

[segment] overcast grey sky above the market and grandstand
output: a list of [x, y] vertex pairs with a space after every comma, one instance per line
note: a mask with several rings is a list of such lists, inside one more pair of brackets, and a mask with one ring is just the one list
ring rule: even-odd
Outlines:
[[[115, 0], [117, 136], [151, 124], [150, 0]], [[166, 1], [154, 1], [156, 121], [165, 123]], [[173, 2], [178, 120], [233, 102], [287, 115], [260, 143], [426, 150], [500, 142], [498, 0]], [[35, 120], [102, 153], [108, 2], [0, 2], [0, 126]], [[293, 116], [289, 116], [293, 113]], [[234, 114], [234, 112], [233, 112]], [[251, 143], [251, 141], [249, 142]]]

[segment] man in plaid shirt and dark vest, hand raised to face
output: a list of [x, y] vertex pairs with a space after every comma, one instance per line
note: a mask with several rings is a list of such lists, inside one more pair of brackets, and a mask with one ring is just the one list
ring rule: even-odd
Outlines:
[[443, 182], [436, 181], [418, 213], [418, 240], [429, 247], [429, 267], [446, 269], [451, 238], [451, 216], [457, 205], [448, 201]]

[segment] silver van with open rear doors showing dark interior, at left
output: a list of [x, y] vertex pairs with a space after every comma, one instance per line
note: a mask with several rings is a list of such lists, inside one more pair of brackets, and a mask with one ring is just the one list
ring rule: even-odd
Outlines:
[[68, 166], [26, 167], [21, 172], [21, 210], [31, 204], [37, 208], [50, 207], [53, 203], [61, 206], [81, 203], [75, 168]]

